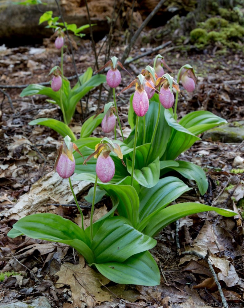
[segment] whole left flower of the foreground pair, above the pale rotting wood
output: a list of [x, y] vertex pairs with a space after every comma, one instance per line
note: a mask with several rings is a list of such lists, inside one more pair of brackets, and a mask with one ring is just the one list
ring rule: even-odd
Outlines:
[[77, 148], [76, 144], [70, 142], [69, 136], [64, 138], [65, 142], [60, 145], [59, 154], [55, 160], [54, 170], [58, 172], [63, 179], [69, 178], [75, 171], [75, 158], [73, 150], [83, 155]]

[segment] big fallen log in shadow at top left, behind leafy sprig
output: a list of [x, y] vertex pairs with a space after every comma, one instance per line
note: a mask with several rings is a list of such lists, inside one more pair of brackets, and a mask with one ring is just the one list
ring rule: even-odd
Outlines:
[[[47, 29], [47, 23], [39, 25], [39, 18], [45, 11], [53, 11], [53, 16], [59, 16], [59, 11], [55, 0], [43, 0], [47, 5], [16, 5], [14, 2], [24, 2], [24, 0], [0, 0], [0, 41], [21, 40], [22, 38], [42, 39], [50, 37], [53, 29]], [[62, 7], [62, 6], [61, 6]], [[77, 27], [88, 24], [87, 14], [84, 10], [67, 11], [62, 8], [64, 20], [68, 23], [75, 23]], [[109, 25], [107, 19], [92, 17], [93, 32], [108, 32]], [[61, 19], [60, 19], [61, 22]], [[89, 29], [84, 30], [89, 33]], [[30, 40], [30, 44], [31, 44]]]

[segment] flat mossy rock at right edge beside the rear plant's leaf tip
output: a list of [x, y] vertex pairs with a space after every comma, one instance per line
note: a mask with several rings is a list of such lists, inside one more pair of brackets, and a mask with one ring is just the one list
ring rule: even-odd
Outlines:
[[244, 121], [223, 124], [205, 132], [202, 139], [224, 143], [241, 143], [244, 140]]

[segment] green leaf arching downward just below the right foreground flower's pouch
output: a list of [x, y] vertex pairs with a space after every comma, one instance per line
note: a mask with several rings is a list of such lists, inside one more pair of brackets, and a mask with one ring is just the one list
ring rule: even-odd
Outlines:
[[139, 223], [139, 197], [131, 185], [99, 184], [110, 197], [119, 198], [118, 212], [136, 227]]

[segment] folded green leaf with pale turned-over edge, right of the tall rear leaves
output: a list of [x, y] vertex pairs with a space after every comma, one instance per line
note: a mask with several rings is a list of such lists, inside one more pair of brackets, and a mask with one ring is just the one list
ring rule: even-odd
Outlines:
[[200, 138], [178, 124], [168, 109], [165, 109], [165, 119], [173, 130], [161, 160], [174, 160], [182, 152], [189, 149], [196, 140], [200, 140]]

